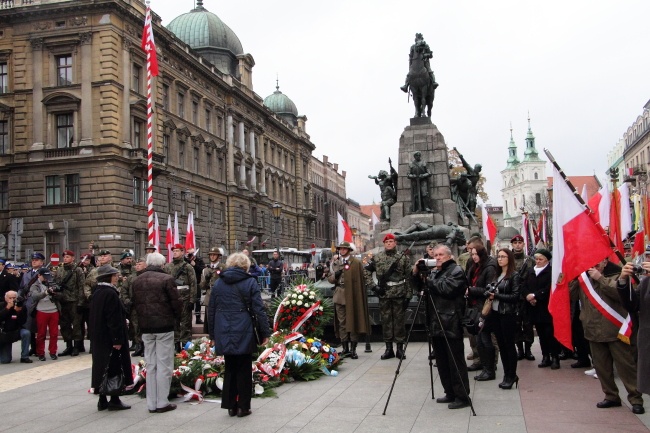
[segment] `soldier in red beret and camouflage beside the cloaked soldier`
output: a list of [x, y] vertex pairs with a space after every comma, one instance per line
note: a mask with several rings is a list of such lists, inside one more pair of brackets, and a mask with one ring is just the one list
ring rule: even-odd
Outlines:
[[404, 343], [406, 342], [404, 304], [411, 299], [411, 261], [408, 256], [397, 251], [395, 235], [388, 233], [384, 236], [384, 251], [378, 253], [367, 267], [367, 270], [377, 273], [379, 284], [374, 286], [374, 292], [379, 296], [379, 312], [386, 351], [381, 359], [395, 357], [393, 342], [397, 343], [397, 357], [406, 358]]

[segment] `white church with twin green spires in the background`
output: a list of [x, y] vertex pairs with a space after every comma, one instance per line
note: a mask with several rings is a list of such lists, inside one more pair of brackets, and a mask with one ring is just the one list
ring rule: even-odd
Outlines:
[[525, 212], [537, 213], [547, 206], [546, 161], [540, 158], [535, 147], [535, 136], [530, 128], [526, 133], [526, 149], [524, 159], [519, 160], [517, 146], [510, 130], [510, 145], [508, 146], [508, 161], [506, 168], [501, 170], [503, 198], [504, 227], [521, 229], [522, 209]]

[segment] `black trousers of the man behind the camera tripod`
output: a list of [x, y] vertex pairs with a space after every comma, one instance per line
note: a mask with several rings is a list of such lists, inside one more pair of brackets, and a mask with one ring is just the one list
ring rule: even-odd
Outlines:
[[[447, 347], [444, 337], [433, 337], [433, 350], [436, 353], [440, 383], [448, 397], [467, 400], [469, 378], [465, 363], [465, 344], [462, 338], [449, 338], [448, 341], [449, 347]], [[450, 348], [451, 350], [449, 350]]]

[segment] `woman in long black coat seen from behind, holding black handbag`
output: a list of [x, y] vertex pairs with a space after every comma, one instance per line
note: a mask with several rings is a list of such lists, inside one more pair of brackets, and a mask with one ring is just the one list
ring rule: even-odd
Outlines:
[[[116, 287], [119, 275], [120, 272], [111, 265], [97, 268], [97, 285], [93, 288], [90, 301], [89, 334], [93, 349], [91, 386], [95, 394], [99, 394], [99, 386], [109, 362], [111, 368], [122, 369], [125, 386], [133, 384], [126, 312]], [[116, 353], [113, 353], [114, 351]], [[121, 362], [117, 361], [118, 353], [121, 355]], [[124, 410], [131, 409], [131, 406], [122, 403], [118, 396], [111, 396], [109, 402], [106, 395], [99, 394], [97, 410], [104, 409]]]

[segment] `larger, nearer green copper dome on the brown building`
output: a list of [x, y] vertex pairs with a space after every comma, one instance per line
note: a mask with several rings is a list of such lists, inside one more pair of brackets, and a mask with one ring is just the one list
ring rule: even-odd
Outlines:
[[239, 38], [198, 0], [195, 9], [174, 18], [167, 29], [224, 73], [235, 75], [237, 55], [244, 54]]

